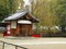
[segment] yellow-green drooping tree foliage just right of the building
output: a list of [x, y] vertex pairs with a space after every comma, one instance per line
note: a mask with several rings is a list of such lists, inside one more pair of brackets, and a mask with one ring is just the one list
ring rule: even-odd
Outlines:
[[[36, 25], [37, 28], [41, 26], [56, 26], [59, 23], [58, 17], [55, 15], [55, 7], [56, 0], [37, 0], [36, 4], [33, 4], [33, 14], [40, 19], [40, 23]], [[53, 5], [54, 4], [54, 5]], [[41, 30], [41, 29], [38, 29]], [[43, 30], [43, 29], [42, 29]], [[44, 32], [48, 33], [51, 29], [45, 29]]]

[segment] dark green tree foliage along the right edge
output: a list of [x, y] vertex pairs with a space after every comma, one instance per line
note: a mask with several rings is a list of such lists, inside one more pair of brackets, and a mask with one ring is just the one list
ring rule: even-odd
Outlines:
[[57, 0], [56, 5], [54, 7], [54, 11], [56, 16], [59, 20], [59, 26], [62, 27], [62, 30], [65, 32], [66, 27], [66, 0]]

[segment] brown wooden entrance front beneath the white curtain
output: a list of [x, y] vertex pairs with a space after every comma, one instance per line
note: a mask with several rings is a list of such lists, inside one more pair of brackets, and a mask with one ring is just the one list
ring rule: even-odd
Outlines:
[[32, 27], [30, 25], [31, 24], [20, 24], [20, 36], [28, 36], [29, 34], [31, 34]]

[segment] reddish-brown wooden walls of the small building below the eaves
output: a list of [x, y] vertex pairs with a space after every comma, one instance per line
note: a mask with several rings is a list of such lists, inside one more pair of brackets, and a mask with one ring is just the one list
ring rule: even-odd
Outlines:
[[24, 36], [26, 34], [32, 35], [33, 34], [32, 24], [31, 25], [22, 25], [22, 28], [20, 25], [18, 25], [15, 29], [11, 28], [11, 36], [19, 35], [20, 30], [24, 30], [24, 33], [22, 33], [22, 35], [24, 35]]

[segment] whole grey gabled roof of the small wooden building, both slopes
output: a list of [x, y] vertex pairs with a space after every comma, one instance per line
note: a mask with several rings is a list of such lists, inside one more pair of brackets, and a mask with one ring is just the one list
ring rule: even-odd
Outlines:
[[[18, 20], [18, 19], [24, 16], [26, 13], [29, 13], [29, 12], [28, 11], [16, 12], [16, 13], [12, 14], [11, 16], [4, 19], [4, 21]], [[29, 14], [35, 22], [38, 22], [38, 20], [35, 16], [33, 16], [31, 13], [29, 13]]]

